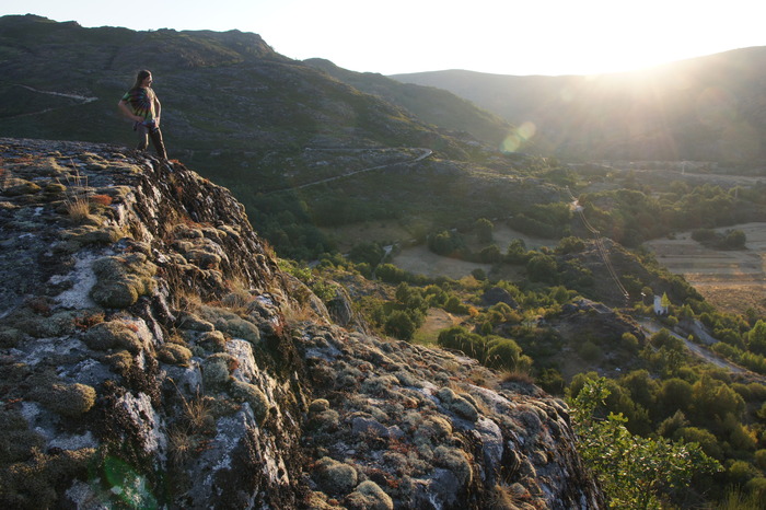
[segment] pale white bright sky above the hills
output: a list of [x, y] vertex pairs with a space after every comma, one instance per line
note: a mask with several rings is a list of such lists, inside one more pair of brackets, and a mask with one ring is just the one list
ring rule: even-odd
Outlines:
[[766, 46], [756, 0], [3, 0], [85, 27], [240, 30], [293, 58], [382, 74], [595, 74]]

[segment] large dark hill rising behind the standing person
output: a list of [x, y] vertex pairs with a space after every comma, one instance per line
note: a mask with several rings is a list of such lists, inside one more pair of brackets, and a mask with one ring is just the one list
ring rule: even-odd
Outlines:
[[[150, 69], [169, 157], [230, 188], [258, 219], [258, 232], [293, 258], [332, 251], [316, 224], [405, 217], [423, 230], [454, 216], [506, 215], [508, 200], [490, 196], [518, 196], [517, 207], [556, 195], [508, 178], [518, 173], [497, 151], [509, 128], [497, 117], [441, 91], [372, 80], [416, 91], [417, 101], [405, 105], [407, 94], [362, 92], [315, 63], [237, 31], [135, 32], [4, 16], [0, 134], [134, 147], [117, 102], [136, 71]], [[418, 105], [451, 120], [422, 120]], [[415, 163], [421, 154], [430, 157]], [[369, 169], [378, 171], [359, 173]], [[358, 177], [340, 179], [348, 175]], [[463, 205], [483, 210], [466, 213]], [[503, 210], [488, 210], [497, 207]], [[448, 208], [452, 218], [437, 218]]]

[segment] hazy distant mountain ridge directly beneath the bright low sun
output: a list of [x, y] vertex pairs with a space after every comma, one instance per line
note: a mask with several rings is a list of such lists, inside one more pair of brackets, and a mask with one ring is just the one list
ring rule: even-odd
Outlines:
[[587, 160], [766, 159], [766, 47], [592, 77], [449, 70], [390, 78], [448, 90], [526, 125], [534, 130], [532, 148], [543, 153]]

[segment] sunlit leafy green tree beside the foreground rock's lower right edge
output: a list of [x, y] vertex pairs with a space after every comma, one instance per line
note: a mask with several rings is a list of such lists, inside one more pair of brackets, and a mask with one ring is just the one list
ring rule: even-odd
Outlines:
[[634, 436], [622, 415], [596, 418], [607, 396], [606, 379], [600, 378], [585, 381], [569, 405], [580, 455], [599, 477], [611, 507], [659, 509], [663, 492], [683, 490], [698, 473], [721, 470], [696, 443]]

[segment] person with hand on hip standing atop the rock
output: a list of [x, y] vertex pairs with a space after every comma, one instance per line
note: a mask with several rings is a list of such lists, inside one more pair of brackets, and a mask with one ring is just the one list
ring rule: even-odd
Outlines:
[[160, 159], [167, 161], [165, 143], [162, 141], [162, 131], [160, 131], [162, 105], [152, 90], [152, 73], [146, 69], [138, 71], [136, 83], [119, 100], [117, 106], [126, 117], [136, 123], [134, 131], [138, 132], [137, 149], [146, 151], [151, 138]]

